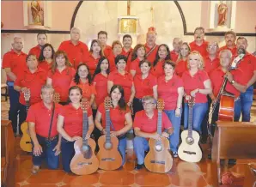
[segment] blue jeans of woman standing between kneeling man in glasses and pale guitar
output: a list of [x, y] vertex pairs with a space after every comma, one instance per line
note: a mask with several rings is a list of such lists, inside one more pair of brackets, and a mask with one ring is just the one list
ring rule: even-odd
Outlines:
[[[174, 128], [174, 133], [171, 136], [169, 136], [170, 148], [173, 152], [177, 152], [178, 145], [180, 142], [180, 118], [181, 117], [175, 116], [175, 110], [171, 110], [171, 111], [164, 110], [164, 112], [167, 114]], [[180, 114], [181, 113], [182, 113], [182, 110], [180, 109]]]

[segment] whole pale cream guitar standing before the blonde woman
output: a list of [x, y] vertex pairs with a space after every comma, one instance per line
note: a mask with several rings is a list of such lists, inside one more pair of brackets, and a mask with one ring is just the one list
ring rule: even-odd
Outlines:
[[178, 149], [178, 155], [181, 160], [188, 162], [198, 162], [202, 159], [202, 150], [198, 145], [200, 136], [197, 131], [192, 130], [192, 115], [195, 98], [191, 97], [188, 101], [189, 117], [188, 130], [183, 130], [181, 133], [181, 144]]

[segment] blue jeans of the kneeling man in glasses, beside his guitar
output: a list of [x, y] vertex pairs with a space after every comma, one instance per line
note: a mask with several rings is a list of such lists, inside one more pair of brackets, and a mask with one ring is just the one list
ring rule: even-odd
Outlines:
[[145, 151], [149, 151], [149, 142], [144, 137], [136, 136], [133, 139], [133, 146], [137, 156], [137, 164], [142, 165], [144, 163]]

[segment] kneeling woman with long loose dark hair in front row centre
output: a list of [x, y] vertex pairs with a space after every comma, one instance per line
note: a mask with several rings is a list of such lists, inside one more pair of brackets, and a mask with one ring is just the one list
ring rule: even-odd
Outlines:
[[[110, 108], [110, 129], [111, 135], [119, 138], [119, 153], [122, 156], [122, 166], [125, 164], [125, 149], [126, 149], [126, 137], [127, 131], [132, 128], [131, 112], [129, 107], [125, 103], [125, 93], [123, 87], [119, 85], [113, 85], [110, 90], [110, 98], [112, 107]], [[94, 120], [95, 126], [98, 130], [101, 130], [102, 134], [106, 134], [106, 110], [104, 103], [102, 103], [96, 114]], [[101, 124], [102, 122], [102, 124]], [[100, 146], [100, 145], [99, 145]], [[101, 151], [101, 148], [100, 148]]]

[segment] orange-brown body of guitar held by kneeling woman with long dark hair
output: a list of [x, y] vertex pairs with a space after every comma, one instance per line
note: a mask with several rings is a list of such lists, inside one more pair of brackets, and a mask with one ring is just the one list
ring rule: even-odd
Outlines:
[[105, 148], [106, 136], [101, 136], [98, 140], [100, 151], [97, 158], [100, 162], [99, 168], [102, 170], [116, 170], [122, 166], [122, 156], [119, 154], [118, 146], [119, 139], [115, 136], [110, 136], [112, 148]]

